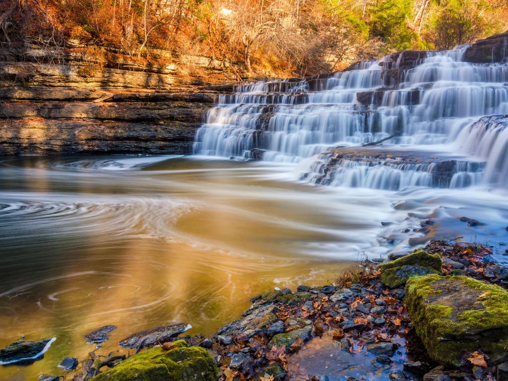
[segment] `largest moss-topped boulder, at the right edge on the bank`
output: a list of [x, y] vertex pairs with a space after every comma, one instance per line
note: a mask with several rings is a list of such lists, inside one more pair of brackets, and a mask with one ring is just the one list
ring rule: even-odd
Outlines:
[[508, 360], [508, 293], [466, 276], [409, 278], [404, 303], [431, 358], [459, 366], [463, 350]]

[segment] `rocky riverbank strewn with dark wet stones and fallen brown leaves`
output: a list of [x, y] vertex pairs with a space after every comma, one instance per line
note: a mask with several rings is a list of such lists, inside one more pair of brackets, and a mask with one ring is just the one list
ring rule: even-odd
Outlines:
[[[180, 344], [168, 343], [184, 339], [188, 345], [206, 349], [208, 355], [201, 351], [199, 356], [213, 358], [218, 368], [217, 379], [223, 381], [257, 378], [262, 381], [333, 381], [346, 378], [350, 381], [505, 380], [504, 369], [508, 365], [505, 364], [508, 360], [506, 348], [503, 346], [502, 350], [497, 348], [495, 353], [489, 352], [489, 348], [482, 347], [481, 339], [492, 329], [496, 332], [496, 340], [504, 338], [505, 321], [488, 329], [480, 327], [484, 323], [483, 318], [469, 322], [471, 328], [466, 336], [469, 342], [475, 342], [472, 347], [462, 342], [464, 338], [460, 336], [459, 330], [452, 332], [456, 335], [454, 337], [452, 335], [447, 340], [436, 341], [446, 345], [462, 342], [460, 349], [464, 351], [459, 350], [458, 357], [450, 362], [434, 352], [426, 351], [425, 348], [429, 348], [431, 344], [425, 340], [426, 336], [422, 337], [424, 328], [417, 319], [415, 299], [410, 299], [408, 293], [412, 295], [414, 290], [418, 290], [417, 283], [422, 279], [441, 279], [441, 275], [442, 279], [448, 281], [467, 278], [481, 282], [486, 287], [495, 284], [500, 287], [499, 290], [506, 289], [508, 268], [498, 264], [487, 247], [452, 241], [435, 241], [424, 250], [399, 257], [381, 265], [362, 262], [344, 271], [334, 284], [322, 287], [300, 285], [294, 291], [267, 291], [252, 299], [252, 306], [239, 320], [221, 327], [209, 337], [178, 336], [187, 329], [187, 325], [183, 323], [141, 332], [122, 340], [120, 344], [123, 347], [131, 348], [126, 356], [102, 354], [98, 346], [96, 351], [90, 353], [89, 359], [75, 362], [77, 370], [71, 369], [59, 376], [63, 379], [84, 381], [101, 374], [98, 379], [116, 380], [113, 374], [108, 378], [108, 372], [114, 371], [118, 364], [128, 367], [140, 355], [135, 355], [131, 362], [122, 363], [126, 357], [141, 351], [141, 354], [148, 353], [144, 355], [144, 359], [151, 361], [148, 356], [150, 352], [146, 348], [165, 343], [163, 348], [171, 352]], [[407, 286], [404, 285], [406, 281], [409, 284]], [[483, 294], [491, 293], [490, 290], [474, 295], [474, 301], [469, 300], [471, 295], [464, 293], [465, 286], [458, 290], [458, 294], [454, 294], [453, 298], [447, 299], [446, 302], [441, 300], [439, 303], [449, 303], [448, 308], [457, 307], [458, 311], [463, 313], [467, 310], [464, 307], [467, 300], [477, 312], [490, 311], [487, 304], [486, 307], [480, 308], [480, 301], [477, 300], [481, 299]], [[444, 296], [448, 295], [448, 292], [450, 289], [443, 289], [434, 294]], [[466, 297], [461, 299], [457, 295]], [[491, 294], [490, 299], [493, 295]], [[457, 304], [457, 300], [462, 302]], [[489, 298], [487, 302], [488, 300]], [[502, 309], [495, 311], [501, 320], [503, 313]], [[480, 328], [475, 330], [474, 327]], [[476, 340], [471, 339], [472, 332], [478, 336]], [[108, 339], [106, 327], [95, 334], [90, 336], [97, 339], [93, 342], [99, 343]], [[506, 354], [503, 355], [504, 352]], [[108, 371], [109, 368], [112, 370]], [[143, 377], [142, 370], [140, 372], [139, 377]], [[117, 371], [117, 374], [125, 373]]]

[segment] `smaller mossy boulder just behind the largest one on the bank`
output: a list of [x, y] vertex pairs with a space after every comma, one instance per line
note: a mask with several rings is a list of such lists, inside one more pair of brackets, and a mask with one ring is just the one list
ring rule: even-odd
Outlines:
[[394, 289], [404, 285], [410, 277], [440, 274], [441, 265], [441, 257], [418, 249], [395, 261], [379, 265], [382, 271], [379, 279], [383, 284]]

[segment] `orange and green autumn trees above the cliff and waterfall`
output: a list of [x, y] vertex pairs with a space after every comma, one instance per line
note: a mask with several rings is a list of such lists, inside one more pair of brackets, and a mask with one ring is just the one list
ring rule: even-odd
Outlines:
[[101, 46], [133, 60], [198, 55], [303, 75], [508, 29], [506, 0], [4, 0], [3, 47]]

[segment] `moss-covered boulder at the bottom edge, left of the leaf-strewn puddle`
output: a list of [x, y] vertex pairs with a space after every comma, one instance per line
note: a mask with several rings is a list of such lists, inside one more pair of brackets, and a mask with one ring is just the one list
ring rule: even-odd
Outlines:
[[91, 381], [215, 381], [217, 368], [204, 348], [178, 340], [169, 351], [153, 347]]

